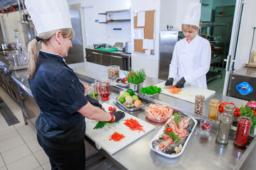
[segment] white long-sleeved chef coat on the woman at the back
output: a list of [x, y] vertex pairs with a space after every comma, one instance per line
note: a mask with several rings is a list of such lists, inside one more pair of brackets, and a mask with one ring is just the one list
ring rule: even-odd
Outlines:
[[182, 77], [186, 84], [207, 89], [206, 73], [210, 69], [210, 42], [196, 35], [188, 43], [186, 38], [176, 42], [169, 68], [169, 78], [174, 81]]

